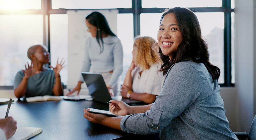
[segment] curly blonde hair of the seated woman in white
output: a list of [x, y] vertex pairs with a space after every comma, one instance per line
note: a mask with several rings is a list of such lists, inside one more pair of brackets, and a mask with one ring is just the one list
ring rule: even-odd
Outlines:
[[151, 65], [159, 61], [159, 56], [153, 47], [156, 44], [154, 38], [149, 36], [137, 37], [134, 44], [137, 47], [135, 64], [139, 65], [141, 70], [149, 69]]

